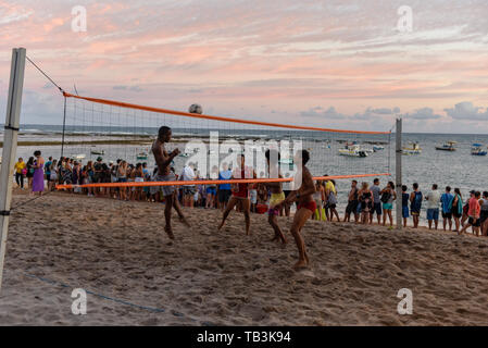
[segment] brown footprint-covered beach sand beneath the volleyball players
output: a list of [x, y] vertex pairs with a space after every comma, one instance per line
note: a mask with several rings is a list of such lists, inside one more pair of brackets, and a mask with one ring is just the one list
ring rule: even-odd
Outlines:
[[[202, 209], [186, 210], [191, 228], [175, 219], [170, 243], [163, 207], [51, 194], [15, 210], [0, 324], [488, 325], [488, 238], [310, 221], [312, 264], [295, 272], [287, 217], [285, 248], [266, 215], [248, 237], [241, 214], [217, 233], [221, 212]], [[71, 310], [78, 287], [86, 315]], [[412, 315], [397, 312], [401, 288]]]

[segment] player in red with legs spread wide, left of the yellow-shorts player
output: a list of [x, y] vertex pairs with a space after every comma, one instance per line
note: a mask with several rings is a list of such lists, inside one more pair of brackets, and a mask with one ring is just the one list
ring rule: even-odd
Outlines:
[[[240, 154], [240, 166], [233, 171], [233, 179], [234, 178], [255, 178], [256, 175], [252, 169], [245, 165], [245, 156]], [[218, 225], [218, 231], [224, 226], [225, 221], [230, 214], [230, 211], [234, 210], [234, 207], [238, 206], [240, 210], [245, 214], [246, 220], [246, 235], [250, 234], [251, 228], [251, 202], [249, 200], [249, 184], [233, 184], [233, 196], [228, 200], [228, 203], [224, 211], [224, 216], [222, 217], [222, 222]]]

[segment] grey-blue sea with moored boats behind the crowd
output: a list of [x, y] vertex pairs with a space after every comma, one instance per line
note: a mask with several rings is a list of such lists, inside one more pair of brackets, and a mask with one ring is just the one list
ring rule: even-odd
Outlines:
[[[61, 126], [49, 125], [23, 125], [18, 136], [18, 141], [61, 141]], [[147, 160], [149, 166], [153, 166], [154, 160], [150, 156], [150, 142], [155, 137], [155, 128], [140, 128], [136, 133], [125, 132], [126, 129], [111, 129], [110, 136], [107, 134], [105, 128], [97, 128], [86, 130], [76, 130], [73, 128], [66, 135], [66, 139], [86, 139], [86, 144], [83, 146], [65, 146], [64, 153], [85, 153], [87, 157], [84, 160], [86, 163], [88, 160], [95, 160], [98, 156], [90, 154], [90, 149], [103, 148], [107, 152], [103, 156], [105, 161], [116, 160], [117, 158], [127, 159], [129, 162], [135, 163], [136, 153], [147, 152], [149, 158]], [[266, 130], [254, 129], [252, 133], [239, 129], [229, 129], [227, 132], [221, 132], [229, 138], [284, 138], [289, 136], [289, 130], [274, 132], [273, 134]], [[208, 129], [176, 129], [174, 132], [177, 136], [207, 136]], [[146, 144], [138, 145], [102, 145], [92, 146], [89, 140], [97, 139], [121, 139], [126, 140], [130, 136], [146, 137]], [[390, 141], [384, 144], [385, 150], [380, 150], [371, 154], [367, 158], [348, 158], [338, 156], [337, 149], [342, 145], [339, 141], [348, 140], [348, 135], [334, 135], [333, 138], [324, 137], [322, 133], [313, 132], [296, 132], [296, 137], [304, 139], [304, 148], [310, 148], [312, 151], [312, 160], [310, 167], [313, 175], [341, 175], [341, 174], [356, 174], [356, 173], [386, 173], [390, 172], [391, 176], [381, 176], [380, 185], [385, 186], [388, 181], [395, 181], [395, 134], [391, 137], [388, 136], [371, 136], [364, 139], [361, 136], [354, 135], [354, 138], [350, 140], [374, 140], [378, 142]], [[439, 190], [443, 191], [443, 188], [449, 185], [452, 188], [459, 187], [463, 194], [463, 197], [468, 196], [471, 189], [488, 190], [487, 183], [487, 169], [488, 157], [476, 157], [471, 154], [472, 144], [478, 142], [486, 148], [488, 146], [488, 135], [465, 135], [465, 134], [403, 134], [403, 146], [408, 146], [410, 141], [418, 142], [422, 148], [422, 154], [418, 156], [402, 156], [402, 175], [403, 184], [408, 185], [409, 191], [411, 191], [412, 184], [418, 183], [421, 190], [427, 194], [430, 190], [433, 184], [439, 186]], [[3, 134], [0, 133], [0, 141], [3, 140]], [[442, 145], [446, 141], [456, 141], [456, 151], [438, 151], [436, 146]], [[329, 146], [333, 145], [330, 148]], [[175, 145], [176, 146], [176, 145]], [[184, 145], [177, 145], [180, 149]], [[78, 147], [78, 149], [77, 149]], [[33, 156], [33, 152], [37, 149], [42, 151], [45, 158], [52, 156], [59, 158], [61, 156], [60, 145], [49, 146], [20, 146], [17, 147], [17, 157], [23, 157], [25, 160]], [[185, 164], [186, 159], [175, 159], [175, 166], [178, 171]], [[139, 161], [140, 162], [140, 161]], [[367, 181], [373, 182], [373, 178], [359, 178], [359, 182]], [[347, 203], [347, 194], [350, 187], [350, 179], [337, 181], [339, 212], [342, 214], [343, 208]]]

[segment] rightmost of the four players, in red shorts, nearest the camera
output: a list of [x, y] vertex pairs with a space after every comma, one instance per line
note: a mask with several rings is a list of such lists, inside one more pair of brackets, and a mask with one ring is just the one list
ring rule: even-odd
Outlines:
[[[301, 157], [299, 156], [301, 152]], [[295, 163], [298, 167], [297, 177], [301, 174], [301, 185], [298, 189], [291, 191], [290, 195], [284, 200], [280, 206], [286, 203], [292, 203], [298, 201], [298, 209], [293, 216], [293, 223], [291, 224], [291, 235], [295, 238], [298, 247], [299, 259], [295, 264], [293, 269], [299, 270], [309, 266], [309, 256], [305, 250], [305, 243], [300, 232], [305, 224], [306, 220], [312, 216], [315, 212], [316, 203], [312, 195], [315, 192], [315, 185], [313, 184], [312, 174], [310, 174], [309, 169], [305, 166], [306, 162], [310, 160], [310, 153], [306, 150], [301, 150], [295, 156]]]

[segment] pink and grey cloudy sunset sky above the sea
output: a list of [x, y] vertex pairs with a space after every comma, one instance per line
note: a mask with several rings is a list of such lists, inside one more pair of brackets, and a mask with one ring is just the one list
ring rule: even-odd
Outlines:
[[[401, 116], [404, 132], [488, 132], [487, 0], [0, 0], [3, 114], [14, 47], [87, 97], [320, 127], [389, 130]], [[27, 63], [21, 123], [61, 124], [62, 103]]]

